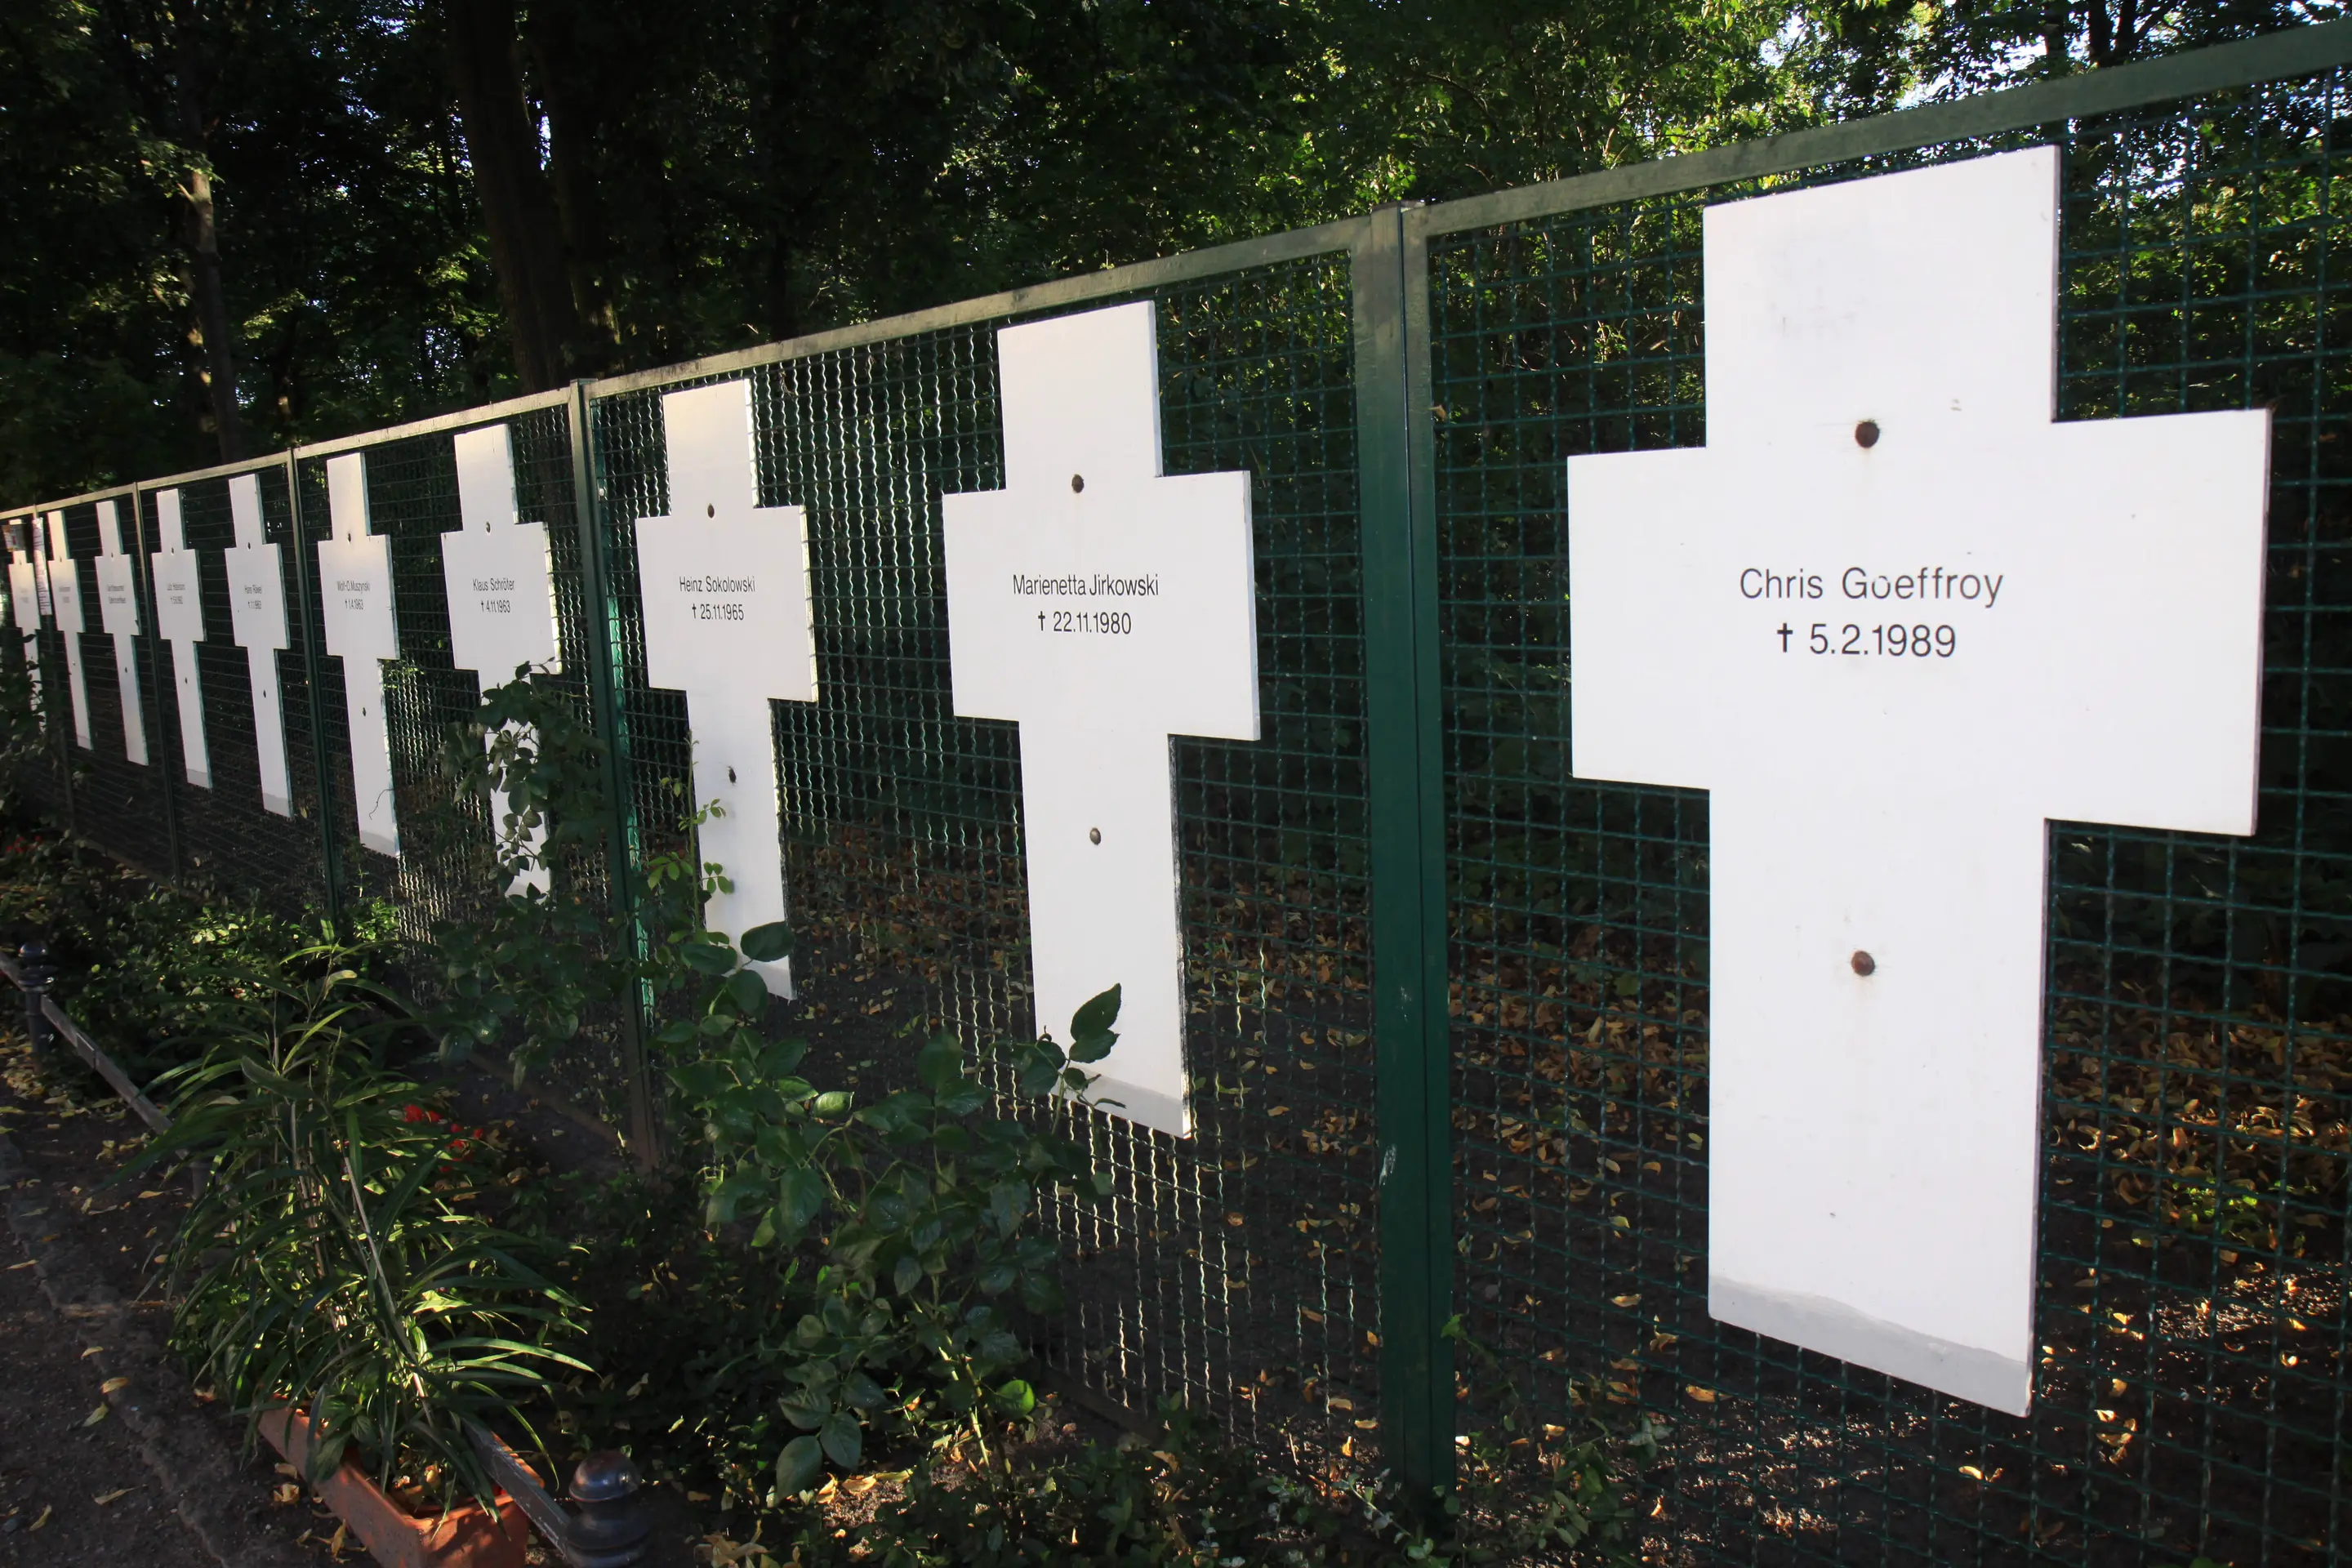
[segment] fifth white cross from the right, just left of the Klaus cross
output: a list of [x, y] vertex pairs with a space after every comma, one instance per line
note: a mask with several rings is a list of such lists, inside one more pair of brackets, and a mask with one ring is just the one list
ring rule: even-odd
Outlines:
[[327, 458], [332, 538], [318, 543], [318, 599], [327, 651], [343, 661], [343, 715], [350, 736], [350, 799], [360, 844], [400, 856], [393, 806], [393, 731], [383, 715], [383, 661], [400, 658], [393, 625], [393, 541], [367, 531], [367, 458]]

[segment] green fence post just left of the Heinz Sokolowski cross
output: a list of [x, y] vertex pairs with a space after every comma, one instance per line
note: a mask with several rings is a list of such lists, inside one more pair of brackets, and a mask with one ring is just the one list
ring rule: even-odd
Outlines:
[[[628, 790], [628, 752], [621, 724], [619, 637], [621, 623], [612, 597], [612, 574], [604, 559], [604, 498], [597, 489], [595, 451], [588, 430], [588, 383], [572, 383], [569, 435], [572, 435], [572, 508], [581, 529], [581, 597], [588, 621], [588, 705], [600, 738], [604, 741], [604, 799], [612, 806], [612, 839], [607, 846], [612, 912], [628, 943], [628, 954], [642, 954], [644, 933], [637, 929], [637, 898], [633, 875], [637, 865], [635, 811]], [[642, 985], [628, 992], [621, 1011], [621, 1067], [628, 1074], [628, 1140], [637, 1164], [652, 1168], [661, 1159], [661, 1117], [654, 1114], [654, 1084], [647, 1072], [644, 1039], [647, 994]]]

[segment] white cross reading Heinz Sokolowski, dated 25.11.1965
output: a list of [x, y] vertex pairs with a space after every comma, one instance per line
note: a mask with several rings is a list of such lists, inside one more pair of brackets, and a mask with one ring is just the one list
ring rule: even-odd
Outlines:
[[[670, 515], [637, 522], [644, 679], [687, 693], [694, 802], [720, 809], [696, 832], [696, 853], [734, 884], [703, 919], [741, 938], [783, 919], [769, 701], [816, 701], [809, 517], [797, 505], [760, 505], [750, 383], [668, 393], [661, 430]], [[753, 969], [769, 992], [793, 994], [790, 959]]]

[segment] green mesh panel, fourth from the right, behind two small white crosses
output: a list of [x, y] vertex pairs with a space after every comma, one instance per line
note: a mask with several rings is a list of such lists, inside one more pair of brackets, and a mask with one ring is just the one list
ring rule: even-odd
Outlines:
[[[292, 632], [287, 642], [292, 646], [282, 649], [273, 663], [287, 741], [287, 773], [294, 785], [294, 816], [278, 816], [261, 804], [252, 675], [245, 649], [235, 639], [228, 611], [228, 564], [221, 557], [221, 550], [238, 543], [228, 510], [228, 480], [198, 480], [179, 487], [181, 534], [188, 550], [198, 552], [205, 611], [205, 642], [195, 644], [195, 679], [202, 696], [212, 788], [195, 788], [186, 780], [179, 701], [158, 708], [160, 757], [172, 773], [183, 875], [249, 893], [285, 914], [318, 917], [327, 910], [327, 882], [320, 867], [318, 771], [310, 764], [310, 710], [294, 614], [294, 562], [285, 548], [292, 529], [285, 465], [261, 468], [254, 477], [261, 491], [263, 538], [280, 548], [287, 588], [287, 628]], [[158, 543], [155, 498], [158, 491], [141, 496], [151, 548]], [[153, 588], [153, 574], [148, 578]], [[155, 658], [169, 679], [172, 649], [158, 646]]]

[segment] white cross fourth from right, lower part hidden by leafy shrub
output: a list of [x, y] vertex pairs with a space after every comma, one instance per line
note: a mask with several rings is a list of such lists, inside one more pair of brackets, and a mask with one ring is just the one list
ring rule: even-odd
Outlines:
[[[515, 451], [506, 425], [461, 430], [456, 437], [459, 529], [442, 534], [442, 581], [449, 588], [449, 661], [475, 670], [482, 691], [515, 679], [522, 665], [553, 670], [555, 578], [548, 571], [548, 524], [522, 522], [515, 501]], [[508, 726], [513, 729], [513, 726]], [[496, 736], [482, 736], [485, 745]], [[492, 790], [492, 832], [506, 835], [506, 792]], [[546, 823], [532, 830], [532, 865], [510, 893], [548, 891], [539, 865]]]

